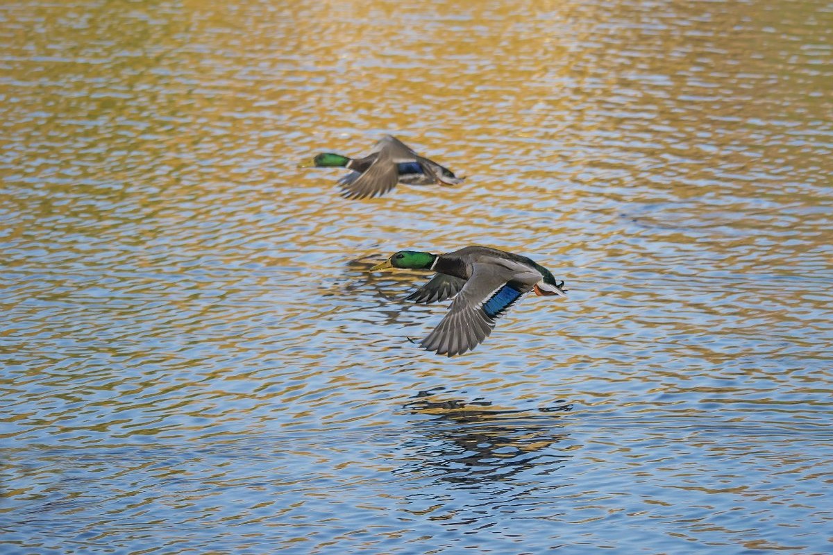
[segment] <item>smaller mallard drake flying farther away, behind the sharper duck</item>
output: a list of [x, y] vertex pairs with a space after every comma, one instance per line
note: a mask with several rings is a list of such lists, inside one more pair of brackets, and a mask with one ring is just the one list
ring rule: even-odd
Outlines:
[[397, 183], [407, 185], [453, 186], [462, 183], [451, 170], [416, 154], [395, 136], [386, 135], [373, 146], [364, 158], [348, 158], [333, 152], [324, 152], [312, 159], [312, 164], [302, 167], [345, 167], [352, 170], [338, 180], [342, 196], [363, 199], [381, 196], [391, 191]]

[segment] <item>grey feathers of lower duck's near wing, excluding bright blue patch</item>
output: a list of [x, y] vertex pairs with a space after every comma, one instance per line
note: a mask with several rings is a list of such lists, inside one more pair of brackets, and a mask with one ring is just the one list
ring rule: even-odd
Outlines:
[[448, 356], [474, 349], [495, 327], [495, 318], [486, 315], [483, 303], [509, 281], [520, 280], [522, 293], [526, 293], [540, 279], [541, 275], [508, 260], [475, 263], [471, 278], [451, 302], [440, 324], [422, 340], [421, 347]]

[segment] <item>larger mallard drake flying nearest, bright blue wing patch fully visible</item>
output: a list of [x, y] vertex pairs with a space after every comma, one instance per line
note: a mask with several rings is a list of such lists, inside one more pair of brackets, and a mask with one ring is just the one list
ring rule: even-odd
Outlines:
[[[522, 295], [566, 295], [564, 282], [526, 256], [487, 246], [466, 246], [445, 255], [400, 250], [373, 266], [431, 270], [436, 275], [407, 297], [432, 303], [454, 297], [445, 317], [420, 346], [436, 354], [463, 354], [491, 334], [496, 320]], [[456, 295], [456, 296], [455, 296]]]

